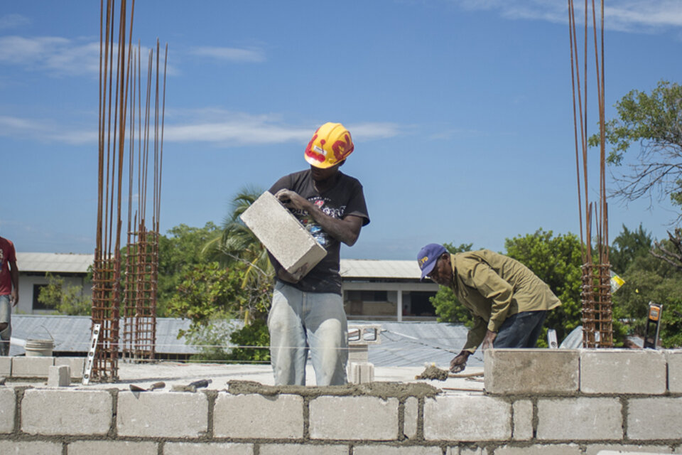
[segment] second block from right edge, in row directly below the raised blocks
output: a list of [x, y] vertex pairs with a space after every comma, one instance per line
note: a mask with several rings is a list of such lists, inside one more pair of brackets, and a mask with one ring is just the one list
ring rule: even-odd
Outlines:
[[537, 439], [595, 441], [623, 439], [622, 405], [617, 398], [538, 400]]

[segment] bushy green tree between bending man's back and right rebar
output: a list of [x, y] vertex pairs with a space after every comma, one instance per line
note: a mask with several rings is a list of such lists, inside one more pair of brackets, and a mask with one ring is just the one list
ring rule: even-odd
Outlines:
[[531, 269], [561, 300], [561, 306], [548, 312], [538, 346], [546, 346], [547, 328], [555, 329], [561, 342], [580, 326], [583, 308], [580, 239], [570, 232], [554, 237], [552, 231], [538, 229], [534, 234], [507, 239], [504, 246], [507, 256]]

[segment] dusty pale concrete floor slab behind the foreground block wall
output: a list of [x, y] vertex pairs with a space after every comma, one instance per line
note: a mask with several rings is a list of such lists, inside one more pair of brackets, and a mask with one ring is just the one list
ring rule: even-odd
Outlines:
[[[445, 368], [445, 365], [441, 365]], [[443, 387], [463, 388], [483, 390], [483, 382], [475, 379], [466, 378], [448, 378], [446, 380], [416, 380], [415, 377], [424, 370], [425, 367], [376, 367], [374, 369], [374, 382], [397, 382], [399, 384], [417, 384], [417, 385], [431, 385], [435, 388], [442, 389]], [[436, 367], [437, 368], [437, 367]], [[482, 367], [469, 367], [465, 370], [466, 373], [482, 372]], [[315, 386], [315, 373], [312, 366], [308, 365], [306, 369], [307, 380], [306, 386]], [[173, 385], [188, 385], [202, 379], [210, 379], [211, 382], [207, 389], [209, 390], [228, 390], [229, 387], [235, 387], [234, 382], [250, 381], [261, 385], [274, 386], [274, 377], [270, 365], [221, 365], [217, 363], [180, 363], [180, 362], [156, 362], [156, 363], [119, 363], [119, 380], [117, 382], [90, 382], [90, 385], [84, 386], [79, 382], [71, 382], [69, 388], [75, 389], [112, 389], [117, 388], [126, 390], [130, 385], [137, 385], [139, 387], [148, 388], [154, 382], [163, 381], [166, 387], [153, 392], [145, 393], [162, 393], [169, 392]], [[232, 385], [231, 385], [232, 383]], [[7, 385], [28, 385], [31, 387], [47, 387], [45, 379], [42, 380], [12, 380], [7, 378]], [[246, 385], [237, 385], [235, 389], [244, 390]], [[383, 386], [377, 386], [383, 387]], [[399, 387], [394, 387], [396, 390]], [[391, 388], [389, 387], [389, 388]], [[421, 386], [418, 386], [421, 387]], [[420, 388], [416, 387], [413, 392], [420, 392]], [[201, 390], [201, 389], [200, 389]], [[319, 390], [319, 389], [318, 389]], [[376, 389], [378, 390], [378, 389]], [[375, 392], [376, 392], [375, 390]], [[448, 390], [450, 392], [457, 392]], [[391, 393], [398, 393], [395, 390]], [[349, 392], [349, 395], [351, 393]], [[369, 395], [377, 395], [370, 393]], [[338, 394], [343, 395], [343, 394]], [[397, 396], [397, 395], [391, 395]]]

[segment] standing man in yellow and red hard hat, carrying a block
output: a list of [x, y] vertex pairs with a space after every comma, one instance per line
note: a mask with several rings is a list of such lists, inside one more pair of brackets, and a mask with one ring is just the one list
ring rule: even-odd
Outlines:
[[305, 385], [308, 349], [317, 385], [346, 383], [347, 322], [339, 251], [341, 242], [354, 245], [369, 223], [362, 185], [339, 170], [353, 149], [342, 124], [325, 123], [303, 154], [310, 169], [284, 176], [270, 188], [327, 250], [298, 281], [270, 256], [276, 283], [268, 328], [276, 385]]

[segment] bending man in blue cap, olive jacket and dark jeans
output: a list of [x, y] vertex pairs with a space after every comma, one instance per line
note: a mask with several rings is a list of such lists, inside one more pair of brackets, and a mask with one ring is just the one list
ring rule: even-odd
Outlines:
[[534, 348], [547, 311], [561, 305], [528, 267], [490, 250], [450, 255], [443, 245], [430, 243], [419, 251], [417, 262], [421, 279], [452, 289], [474, 316], [467, 343], [450, 362], [454, 373], [464, 370], [478, 346]]

